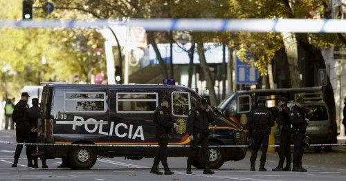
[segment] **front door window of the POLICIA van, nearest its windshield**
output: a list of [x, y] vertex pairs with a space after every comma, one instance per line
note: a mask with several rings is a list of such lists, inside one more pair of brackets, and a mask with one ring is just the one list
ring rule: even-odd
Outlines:
[[176, 116], [188, 117], [191, 108], [190, 93], [172, 92], [172, 114]]

